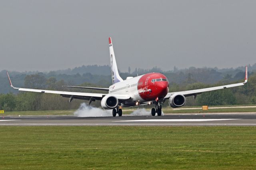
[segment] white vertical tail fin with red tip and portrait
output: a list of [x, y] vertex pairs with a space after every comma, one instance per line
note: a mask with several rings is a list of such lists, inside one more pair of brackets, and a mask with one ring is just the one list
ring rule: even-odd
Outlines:
[[120, 77], [120, 75], [118, 73], [118, 69], [117, 69], [117, 65], [116, 65], [116, 58], [115, 58], [115, 54], [114, 54], [111, 37], [108, 38], [108, 42], [109, 42], [109, 54], [110, 54], [110, 67], [111, 67], [111, 73], [112, 73], [112, 83], [114, 84], [119, 81], [123, 81], [123, 79]]

